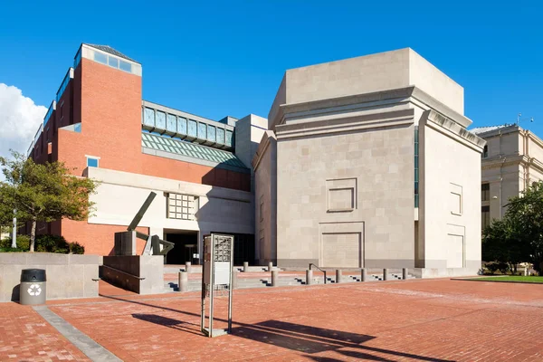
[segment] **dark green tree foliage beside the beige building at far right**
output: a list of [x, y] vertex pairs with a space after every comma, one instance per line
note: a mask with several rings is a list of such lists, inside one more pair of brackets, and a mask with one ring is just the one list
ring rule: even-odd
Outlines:
[[486, 262], [505, 262], [511, 271], [520, 262], [531, 262], [539, 273], [543, 269], [543, 182], [534, 183], [518, 197], [510, 199], [502, 220], [484, 230], [482, 258]]

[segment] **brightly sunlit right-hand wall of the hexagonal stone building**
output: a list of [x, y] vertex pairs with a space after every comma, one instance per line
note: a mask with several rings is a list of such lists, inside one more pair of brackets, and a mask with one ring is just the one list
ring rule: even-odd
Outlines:
[[[430, 111], [425, 113], [428, 116]], [[422, 156], [420, 233], [424, 268], [481, 267], [481, 148], [449, 132], [453, 123], [419, 123]]]

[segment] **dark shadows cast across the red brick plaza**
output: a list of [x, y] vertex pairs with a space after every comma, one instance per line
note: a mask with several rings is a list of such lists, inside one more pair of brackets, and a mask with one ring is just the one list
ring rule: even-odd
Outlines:
[[[113, 296], [106, 297], [111, 300], [122, 300], [128, 303], [138, 304], [140, 306], [156, 308], [158, 310], [167, 310], [188, 317], [200, 317], [199, 314], [167, 308], [165, 306], [157, 306], [146, 301], [125, 300]], [[195, 335], [200, 335], [200, 326], [195, 323], [190, 323], [180, 319], [172, 319], [158, 314], [152, 313], [135, 313], [132, 314], [135, 319], [140, 319], [148, 323], [154, 323], [170, 329], [176, 329], [182, 332], [187, 332]], [[215, 318], [219, 322], [226, 322], [225, 319]], [[281, 320], [266, 320], [259, 323], [249, 324], [233, 321], [232, 336], [237, 338], [246, 338], [252, 341], [264, 343], [278, 348], [291, 349], [299, 352], [304, 357], [308, 357], [318, 362], [335, 362], [340, 361], [333, 357], [315, 356], [316, 354], [333, 351], [342, 355], [344, 358], [358, 358], [371, 361], [395, 361], [399, 358], [411, 358], [418, 361], [434, 361], [434, 362], [453, 362], [449, 359], [440, 359], [435, 357], [419, 356], [412, 353], [405, 353], [386, 348], [374, 348], [365, 346], [364, 343], [376, 339], [374, 336], [357, 334], [338, 329], [322, 329], [312, 326], [285, 322]]]

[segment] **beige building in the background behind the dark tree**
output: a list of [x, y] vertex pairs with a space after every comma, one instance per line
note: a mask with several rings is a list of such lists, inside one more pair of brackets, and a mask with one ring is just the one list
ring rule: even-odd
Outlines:
[[486, 140], [481, 158], [481, 228], [500, 220], [511, 197], [543, 180], [543, 141], [519, 125], [472, 129]]

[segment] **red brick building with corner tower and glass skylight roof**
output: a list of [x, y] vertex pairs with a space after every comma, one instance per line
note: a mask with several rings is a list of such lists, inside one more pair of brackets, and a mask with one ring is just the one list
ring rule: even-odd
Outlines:
[[[28, 151], [100, 182], [87, 222], [43, 224], [85, 252], [111, 254], [149, 192], [140, 231], [176, 243], [167, 262], [194, 261], [203, 234], [236, 234], [254, 258], [251, 160], [267, 120], [205, 119], [142, 100], [142, 66], [110, 46], [81, 44]], [[138, 244], [139, 252], [143, 241]], [[196, 261], [197, 262], [197, 261]]]

